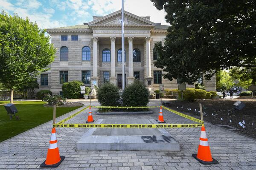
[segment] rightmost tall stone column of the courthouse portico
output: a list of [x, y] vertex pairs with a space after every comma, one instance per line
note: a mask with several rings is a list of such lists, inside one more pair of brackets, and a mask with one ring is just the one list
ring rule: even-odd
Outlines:
[[146, 42], [146, 80], [147, 80], [147, 85], [151, 85], [151, 56], [150, 56], [150, 37], [145, 38]]

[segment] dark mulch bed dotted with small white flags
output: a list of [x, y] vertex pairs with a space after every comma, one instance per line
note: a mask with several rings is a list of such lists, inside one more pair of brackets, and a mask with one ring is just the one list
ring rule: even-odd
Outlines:
[[[241, 111], [234, 111], [233, 104], [241, 101], [245, 107]], [[214, 125], [230, 125], [237, 132], [256, 138], [256, 100], [255, 99], [218, 99], [196, 100], [195, 102], [173, 101], [169, 108], [189, 113], [200, 119], [199, 103], [202, 103], [204, 120]], [[188, 110], [189, 109], [189, 110]], [[190, 110], [191, 109], [191, 110]], [[212, 116], [213, 115], [213, 116]], [[230, 122], [231, 121], [231, 122]], [[243, 124], [244, 121], [244, 124]], [[239, 122], [241, 124], [239, 125]], [[244, 125], [242, 127], [241, 125]]]

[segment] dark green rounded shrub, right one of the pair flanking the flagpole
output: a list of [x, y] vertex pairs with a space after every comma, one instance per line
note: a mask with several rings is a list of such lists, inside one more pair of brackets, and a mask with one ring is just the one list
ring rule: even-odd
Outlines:
[[135, 81], [126, 86], [122, 94], [122, 101], [125, 106], [146, 106], [148, 105], [149, 91], [140, 81]]

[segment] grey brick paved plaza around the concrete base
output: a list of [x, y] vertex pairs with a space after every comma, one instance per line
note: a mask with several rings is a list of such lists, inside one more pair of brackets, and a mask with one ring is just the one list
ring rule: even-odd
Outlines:
[[[156, 101], [156, 100], [154, 100]], [[84, 102], [87, 106], [89, 102]], [[159, 105], [159, 102], [152, 102]], [[92, 105], [99, 105], [92, 102]], [[85, 106], [84, 106], [85, 107]], [[80, 110], [79, 108], [78, 110]], [[159, 108], [152, 109], [148, 115], [97, 115], [94, 119], [154, 118]], [[76, 111], [78, 111], [76, 110]], [[57, 122], [72, 115], [67, 113]], [[85, 123], [88, 110], [67, 121]], [[163, 110], [167, 123], [194, 123], [174, 113]], [[85, 128], [56, 128], [60, 155], [66, 158], [58, 168], [73, 170], [256, 170], [256, 140], [244, 137], [230, 130], [205, 123], [212, 157], [219, 161], [215, 165], [202, 165], [192, 158], [197, 153], [200, 128], [167, 129], [180, 142], [180, 152], [150, 151], [76, 151], [76, 141], [81, 138]], [[28, 130], [0, 143], [0, 169], [39, 169], [45, 160], [52, 121]]]

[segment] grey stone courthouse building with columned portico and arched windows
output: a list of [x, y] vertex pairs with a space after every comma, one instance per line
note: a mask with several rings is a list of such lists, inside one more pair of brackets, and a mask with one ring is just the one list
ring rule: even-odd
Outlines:
[[[155, 42], [164, 42], [168, 26], [153, 23], [127, 11], [125, 17], [125, 85], [138, 79], [147, 86], [175, 89], [177, 80], [163, 79], [162, 70], [154, 67]], [[40, 89], [62, 94], [64, 82], [78, 80], [85, 86], [112, 82], [122, 87], [121, 10], [104, 17], [93, 16], [83, 25], [47, 29], [56, 48], [50, 70], [38, 79]], [[204, 81], [207, 91], [215, 91], [215, 77]], [[187, 87], [194, 87], [187, 85]]]

